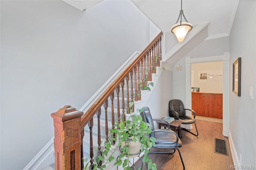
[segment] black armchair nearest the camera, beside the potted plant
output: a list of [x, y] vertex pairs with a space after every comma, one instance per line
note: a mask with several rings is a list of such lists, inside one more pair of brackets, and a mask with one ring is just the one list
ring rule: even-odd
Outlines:
[[[154, 152], [150, 151], [149, 153], [162, 153], [162, 154], [174, 154], [175, 150], [178, 150], [180, 154], [180, 160], [182, 162], [183, 169], [185, 169], [184, 162], [182, 160], [182, 156], [180, 153], [180, 150], [178, 147], [182, 146], [182, 142], [178, 135], [170, 130], [170, 125], [167, 121], [163, 119], [152, 119], [150, 110], [148, 107], [143, 107], [143, 112], [141, 113], [141, 116], [143, 118], [143, 121], [150, 124], [152, 132], [149, 134], [149, 137], [153, 136], [156, 139], [156, 145], [153, 146], [155, 148], [170, 148], [174, 149], [173, 152]], [[153, 121], [164, 121], [169, 125], [168, 129], [155, 129]]]

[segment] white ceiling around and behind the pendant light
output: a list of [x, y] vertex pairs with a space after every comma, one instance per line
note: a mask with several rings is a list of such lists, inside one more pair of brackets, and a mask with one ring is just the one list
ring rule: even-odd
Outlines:
[[[80, 9], [87, 9], [102, 0], [64, 0]], [[180, 0], [131, 0], [162, 32], [170, 32], [181, 9]], [[229, 36], [239, 0], [183, 0], [182, 9], [193, 26], [210, 22], [208, 38]]]

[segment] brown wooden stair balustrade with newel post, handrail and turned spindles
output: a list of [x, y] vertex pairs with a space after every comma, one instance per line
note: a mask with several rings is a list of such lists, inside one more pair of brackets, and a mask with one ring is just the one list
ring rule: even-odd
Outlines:
[[[140, 90], [145, 90], [143, 85], [148, 85], [147, 81], [152, 81], [152, 73], [156, 73], [156, 67], [159, 66], [161, 54], [161, 36], [159, 33], [156, 38], [114, 79], [106, 90], [96, 99], [90, 108], [83, 114], [70, 106], [64, 106], [56, 113], [52, 113], [54, 119], [54, 148], [55, 148], [55, 169], [56, 170], [77, 170], [84, 168], [83, 156], [83, 141], [90, 138], [90, 168], [93, 169], [94, 162], [94, 144], [93, 144], [93, 126], [94, 115], [97, 115], [95, 126], [98, 128], [97, 132], [97, 145], [98, 155], [101, 155], [101, 141], [102, 139], [108, 140], [108, 121], [111, 120], [111, 128], [115, 128], [115, 120], [125, 120], [126, 113], [130, 113], [130, 102], [140, 101]], [[141, 66], [140, 66], [141, 63]], [[141, 70], [141, 72], [140, 72]], [[146, 86], [147, 87], [147, 86]], [[120, 89], [121, 88], [121, 89]], [[126, 94], [124, 89], [126, 88]], [[130, 91], [130, 92], [129, 92]], [[116, 94], [116, 96], [115, 96]], [[127, 97], [125, 99], [125, 97]], [[111, 106], [108, 105], [108, 100], [111, 99]], [[116, 102], [114, 102], [114, 100]], [[120, 102], [121, 101], [121, 102]], [[126, 103], [125, 103], [126, 102]], [[127, 104], [127, 105], [126, 105]], [[102, 106], [104, 108], [102, 108]], [[111, 115], [108, 119], [108, 106], [111, 108]], [[133, 105], [134, 107], [134, 105]], [[117, 111], [114, 111], [114, 108]], [[122, 109], [122, 111], [121, 111]], [[105, 114], [101, 114], [104, 110]], [[122, 115], [120, 114], [122, 112]], [[106, 137], [101, 135], [101, 115], [105, 115], [102, 121], [105, 121], [105, 134]], [[109, 122], [110, 123], [110, 122]], [[84, 128], [88, 125], [89, 134], [86, 134]], [[111, 126], [110, 125], [110, 126]], [[102, 129], [103, 130], [103, 129]], [[116, 134], [111, 134], [115, 136]], [[114, 142], [112, 142], [114, 144]], [[88, 150], [87, 150], [88, 151]], [[79, 161], [76, 161], [79, 160]], [[99, 163], [101, 164], [101, 163]]]

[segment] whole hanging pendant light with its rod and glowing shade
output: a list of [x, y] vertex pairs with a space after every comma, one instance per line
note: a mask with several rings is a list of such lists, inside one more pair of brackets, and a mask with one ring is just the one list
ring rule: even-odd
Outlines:
[[[182, 16], [186, 22], [182, 22]], [[180, 22], [179, 22], [180, 20]], [[178, 20], [174, 26], [172, 26], [171, 31], [173, 34], [175, 34], [176, 38], [178, 39], [178, 42], [183, 42], [185, 36], [187, 33], [193, 28], [192, 24], [190, 24], [186, 17], [184, 16], [183, 10], [182, 10], [182, 0], [181, 0], [181, 10], [180, 15], [178, 17]]]

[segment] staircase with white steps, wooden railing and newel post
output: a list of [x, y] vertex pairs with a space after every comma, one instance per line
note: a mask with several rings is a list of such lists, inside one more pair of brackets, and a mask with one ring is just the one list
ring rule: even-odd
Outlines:
[[[64, 120], [66, 123], [79, 123], [69, 128], [74, 131], [80, 131], [82, 136], [82, 145], [77, 145], [79, 141], [77, 138], [70, 138], [65, 130], [67, 129], [64, 122], [63, 127], [55, 127], [55, 138], [59, 138], [58, 141], [54, 143], [55, 153], [58, 153], [57, 159], [55, 158], [55, 164], [58, 168], [63, 169], [78, 169], [80, 166], [78, 163], [79, 158], [77, 157], [78, 150], [81, 149], [80, 160], [83, 158], [88, 158], [88, 160], [93, 160], [94, 155], [100, 152], [100, 148], [103, 147], [104, 141], [108, 139], [108, 132], [111, 128], [114, 128], [114, 122], [120, 121], [120, 119], [127, 119], [130, 115], [129, 113], [129, 102], [134, 102], [133, 111], [138, 113], [138, 110], [145, 106], [147, 99], [150, 96], [150, 91], [154, 90], [154, 87], [150, 86], [150, 91], [144, 89], [144, 85], [148, 85], [153, 82], [157, 83], [158, 77], [162, 73], [162, 68], [160, 67], [160, 62], [162, 60], [162, 32], [135, 58], [133, 59], [127, 67], [120, 69], [119, 73], [115, 73], [113, 76], [113, 81], [109, 82], [102, 93], [98, 93], [98, 96], [94, 100], [90, 101], [89, 104], [84, 106], [81, 121], [78, 122], [78, 116], [80, 111], [76, 111], [74, 108], [65, 106], [58, 112], [53, 113], [54, 123], [56, 118], [59, 120]], [[72, 112], [70, 109], [73, 109]], [[72, 118], [72, 114], [76, 115]], [[65, 117], [65, 119], [63, 119]], [[69, 117], [69, 120], [66, 119]], [[64, 125], [65, 124], [65, 125]], [[64, 128], [65, 126], [65, 128]], [[77, 129], [75, 127], [80, 127]], [[58, 132], [62, 132], [64, 136], [60, 136]], [[78, 136], [79, 138], [79, 136]], [[75, 140], [74, 140], [75, 139]], [[74, 140], [74, 144], [72, 144]], [[68, 146], [64, 143], [67, 141]], [[66, 142], [66, 143], [67, 143]], [[57, 144], [58, 143], [58, 144]], [[64, 149], [65, 145], [65, 149]], [[81, 148], [80, 148], [81, 146]], [[99, 148], [99, 149], [98, 149]], [[71, 152], [70, 152], [71, 151]], [[75, 154], [76, 153], [76, 154]], [[116, 153], [116, 157], [120, 153]], [[80, 155], [80, 154], [79, 154]], [[56, 154], [55, 154], [56, 157]], [[65, 158], [65, 161], [64, 161]], [[83, 167], [81, 162], [81, 166]], [[90, 163], [89, 163], [90, 164]], [[108, 165], [107, 169], [111, 169], [112, 164]], [[53, 165], [51, 165], [53, 167]], [[51, 168], [50, 166], [46, 168]], [[67, 168], [70, 167], [70, 168]], [[57, 169], [58, 169], [57, 168]], [[112, 168], [113, 169], [113, 168]], [[120, 168], [121, 169], [121, 168]]]

